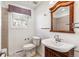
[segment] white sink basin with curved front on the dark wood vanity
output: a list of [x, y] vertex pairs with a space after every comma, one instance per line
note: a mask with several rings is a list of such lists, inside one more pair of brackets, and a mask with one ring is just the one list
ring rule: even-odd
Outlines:
[[42, 44], [44, 44], [48, 48], [51, 48], [59, 52], [68, 52], [69, 50], [75, 47], [75, 45], [69, 43], [64, 43], [64, 42], [56, 43], [56, 41], [53, 41], [53, 39], [42, 40]]

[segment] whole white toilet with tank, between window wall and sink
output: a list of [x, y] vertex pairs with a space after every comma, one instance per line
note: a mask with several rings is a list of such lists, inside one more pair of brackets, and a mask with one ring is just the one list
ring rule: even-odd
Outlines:
[[34, 36], [32, 39], [32, 43], [25, 44], [23, 47], [27, 57], [36, 55], [36, 48], [40, 45], [40, 37]]

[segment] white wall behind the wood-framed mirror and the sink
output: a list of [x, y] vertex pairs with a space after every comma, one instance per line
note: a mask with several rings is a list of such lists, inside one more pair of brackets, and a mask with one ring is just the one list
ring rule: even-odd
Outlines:
[[[50, 32], [50, 29], [41, 29], [43, 27], [50, 28], [50, 13], [49, 12], [49, 5], [48, 2], [45, 2], [41, 4], [37, 9], [36, 9], [36, 30], [37, 30], [37, 35], [42, 37], [43, 39], [53, 37], [54, 35], [58, 34], [60, 37], [63, 39], [64, 42], [71, 43], [77, 46], [77, 52], [79, 50], [79, 29], [75, 29], [75, 33], [56, 33], [56, 32]], [[79, 2], [75, 2], [74, 5], [75, 13], [74, 13], [74, 21], [79, 22]], [[47, 14], [44, 16], [44, 14]], [[79, 26], [79, 25], [78, 25]], [[42, 55], [43, 53], [41, 52], [43, 49], [39, 49], [39, 53]], [[75, 56], [79, 56], [79, 53], [75, 53]]]

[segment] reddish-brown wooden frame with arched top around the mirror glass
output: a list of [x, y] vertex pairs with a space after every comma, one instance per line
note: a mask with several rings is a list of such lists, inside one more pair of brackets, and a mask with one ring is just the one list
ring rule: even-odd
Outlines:
[[[53, 13], [60, 7], [69, 6], [69, 31], [57, 31], [53, 30]], [[58, 1], [53, 7], [49, 8], [51, 11], [51, 32], [64, 32], [64, 33], [74, 33], [74, 1]]]

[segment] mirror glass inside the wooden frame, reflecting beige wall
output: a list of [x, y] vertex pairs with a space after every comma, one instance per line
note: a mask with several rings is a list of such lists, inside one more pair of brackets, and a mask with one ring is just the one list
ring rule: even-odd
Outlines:
[[53, 30], [69, 31], [69, 7], [60, 7], [53, 13]]

